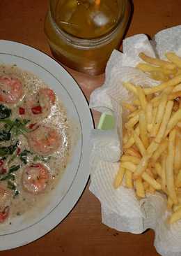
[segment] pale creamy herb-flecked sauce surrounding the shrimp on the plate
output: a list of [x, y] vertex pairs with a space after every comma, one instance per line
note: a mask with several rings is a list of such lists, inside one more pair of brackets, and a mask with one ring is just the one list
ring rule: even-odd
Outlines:
[[[16, 155], [13, 161], [10, 162], [10, 157], [7, 157], [7, 159], [4, 160], [4, 167], [8, 169], [12, 165], [20, 165], [19, 170], [15, 171], [15, 180], [13, 183], [17, 186], [17, 191], [19, 192], [18, 195], [15, 196], [14, 191], [10, 190], [11, 193], [11, 204], [10, 204], [10, 218], [14, 215], [22, 215], [23, 213], [29, 211], [32, 208], [36, 208], [41, 201], [47, 198], [47, 194], [51, 190], [54, 189], [55, 185], [57, 184], [57, 181], [62, 177], [63, 172], [65, 170], [65, 167], [68, 164], [69, 161], [69, 155], [70, 155], [70, 148], [72, 144], [72, 139], [70, 138], [70, 122], [68, 120], [68, 117], [66, 115], [65, 108], [61, 102], [60, 99], [56, 97], [55, 103], [51, 106], [49, 115], [47, 117], [41, 117], [38, 120], [38, 115], [35, 115], [35, 118], [33, 119], [33, 115], [31, 117], [29, 115], [19, 115], [19, 107], [26, 105], [26, 100], [36, 95], [36, 93], [40, 90], [40, 88], [47, 87], [45, 83], [40, 80], [40, 78], [34, 76], [32, 73], [29, 73], [27, 71], [22, 71], [21, 69], [17, 68], [17, 66], [0, 66], [0, 76], [4, 75], [10, 75], [15, 76], [19, 80], [22, 81], [23, 84], [23, 96], [22, 99], [18, 101], [17, 104], [4, 104], [3, 102], [0, 102], [3, 105], [8, 106], [8, 108], [11, 109], [12, 115], [10, 115], [10, 120], [15, 120], [15, 118], [26, 118], [30, 120], [30, 122], [27, 124], [27, 127], [29, 124], [36, 123], [38, 125], [46, 125], [47, 127], [54, 128], [58, 134], [60, 134], [62, 138], [62, 143], [59, 146], [58, 150], [56, 150], [51, 155], [38, 155], [37, 153], [34, 153], [32, 148], [29, 147], [29, 143], [27, 140], [27, 137], [29, 136], [29, 133], [26, 134], [26, 136], [20, 134], [17, 138], [11, 138], [10, 141], [2, 141], [0, 142], [0, 146], [8, 146], [15, 143], [15, 141], [19, 141], [19, 148], [20, 152], [23, 150], [29, 150], [31, 153], [27, 155], [27, 164], [24, 164], [21, 159], [19, 158], [19, 155]], [[0, 123], [0, 129], [2, 129], [4, 124]], [[49, 171], [49, 182], [47, 183], [47, 187], [44, 192], [40, 194], [31, 194], [29, 192], [26, 192], [24, 190], [24, 187], [22, 187], [22, 173], [24, 169], [26, 169], [26, 166], [30, 164], [36, 164], [41, 163], [45, 165]], [[0, 181], [1, 187], [7, 187], [7, 180]]]

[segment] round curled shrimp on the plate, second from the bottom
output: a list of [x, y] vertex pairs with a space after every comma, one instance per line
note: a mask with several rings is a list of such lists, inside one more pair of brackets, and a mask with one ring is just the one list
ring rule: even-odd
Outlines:
[[49, 171], [38, 163], [26, 166], [22, 176], [22, 185], [24, 190], [31, 194], [40, 194], [47, 187], [49, 181]]

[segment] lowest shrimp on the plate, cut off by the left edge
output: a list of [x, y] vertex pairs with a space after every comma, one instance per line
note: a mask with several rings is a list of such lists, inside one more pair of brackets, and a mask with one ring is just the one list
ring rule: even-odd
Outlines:
[[3, 223], [10, 211], [10, 192], [0, 187], [0, 223]]

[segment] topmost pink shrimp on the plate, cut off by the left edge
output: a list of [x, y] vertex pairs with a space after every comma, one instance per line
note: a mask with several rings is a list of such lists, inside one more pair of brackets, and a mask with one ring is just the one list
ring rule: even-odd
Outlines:
[[15, 104], [23, 95], [23, 85], [20, 80], [11, 76], [0, 76], [0, 101]]

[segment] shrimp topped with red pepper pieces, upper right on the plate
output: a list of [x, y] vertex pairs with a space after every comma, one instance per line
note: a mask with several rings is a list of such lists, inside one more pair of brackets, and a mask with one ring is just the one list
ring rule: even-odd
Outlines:
[[24, 104], [24, 114], [33, 118], [34, 121], [46, 118], [51, 106], [55, 103], [55, 94], [49, 88], [42, 88], [38, 93], [26, 99]]

